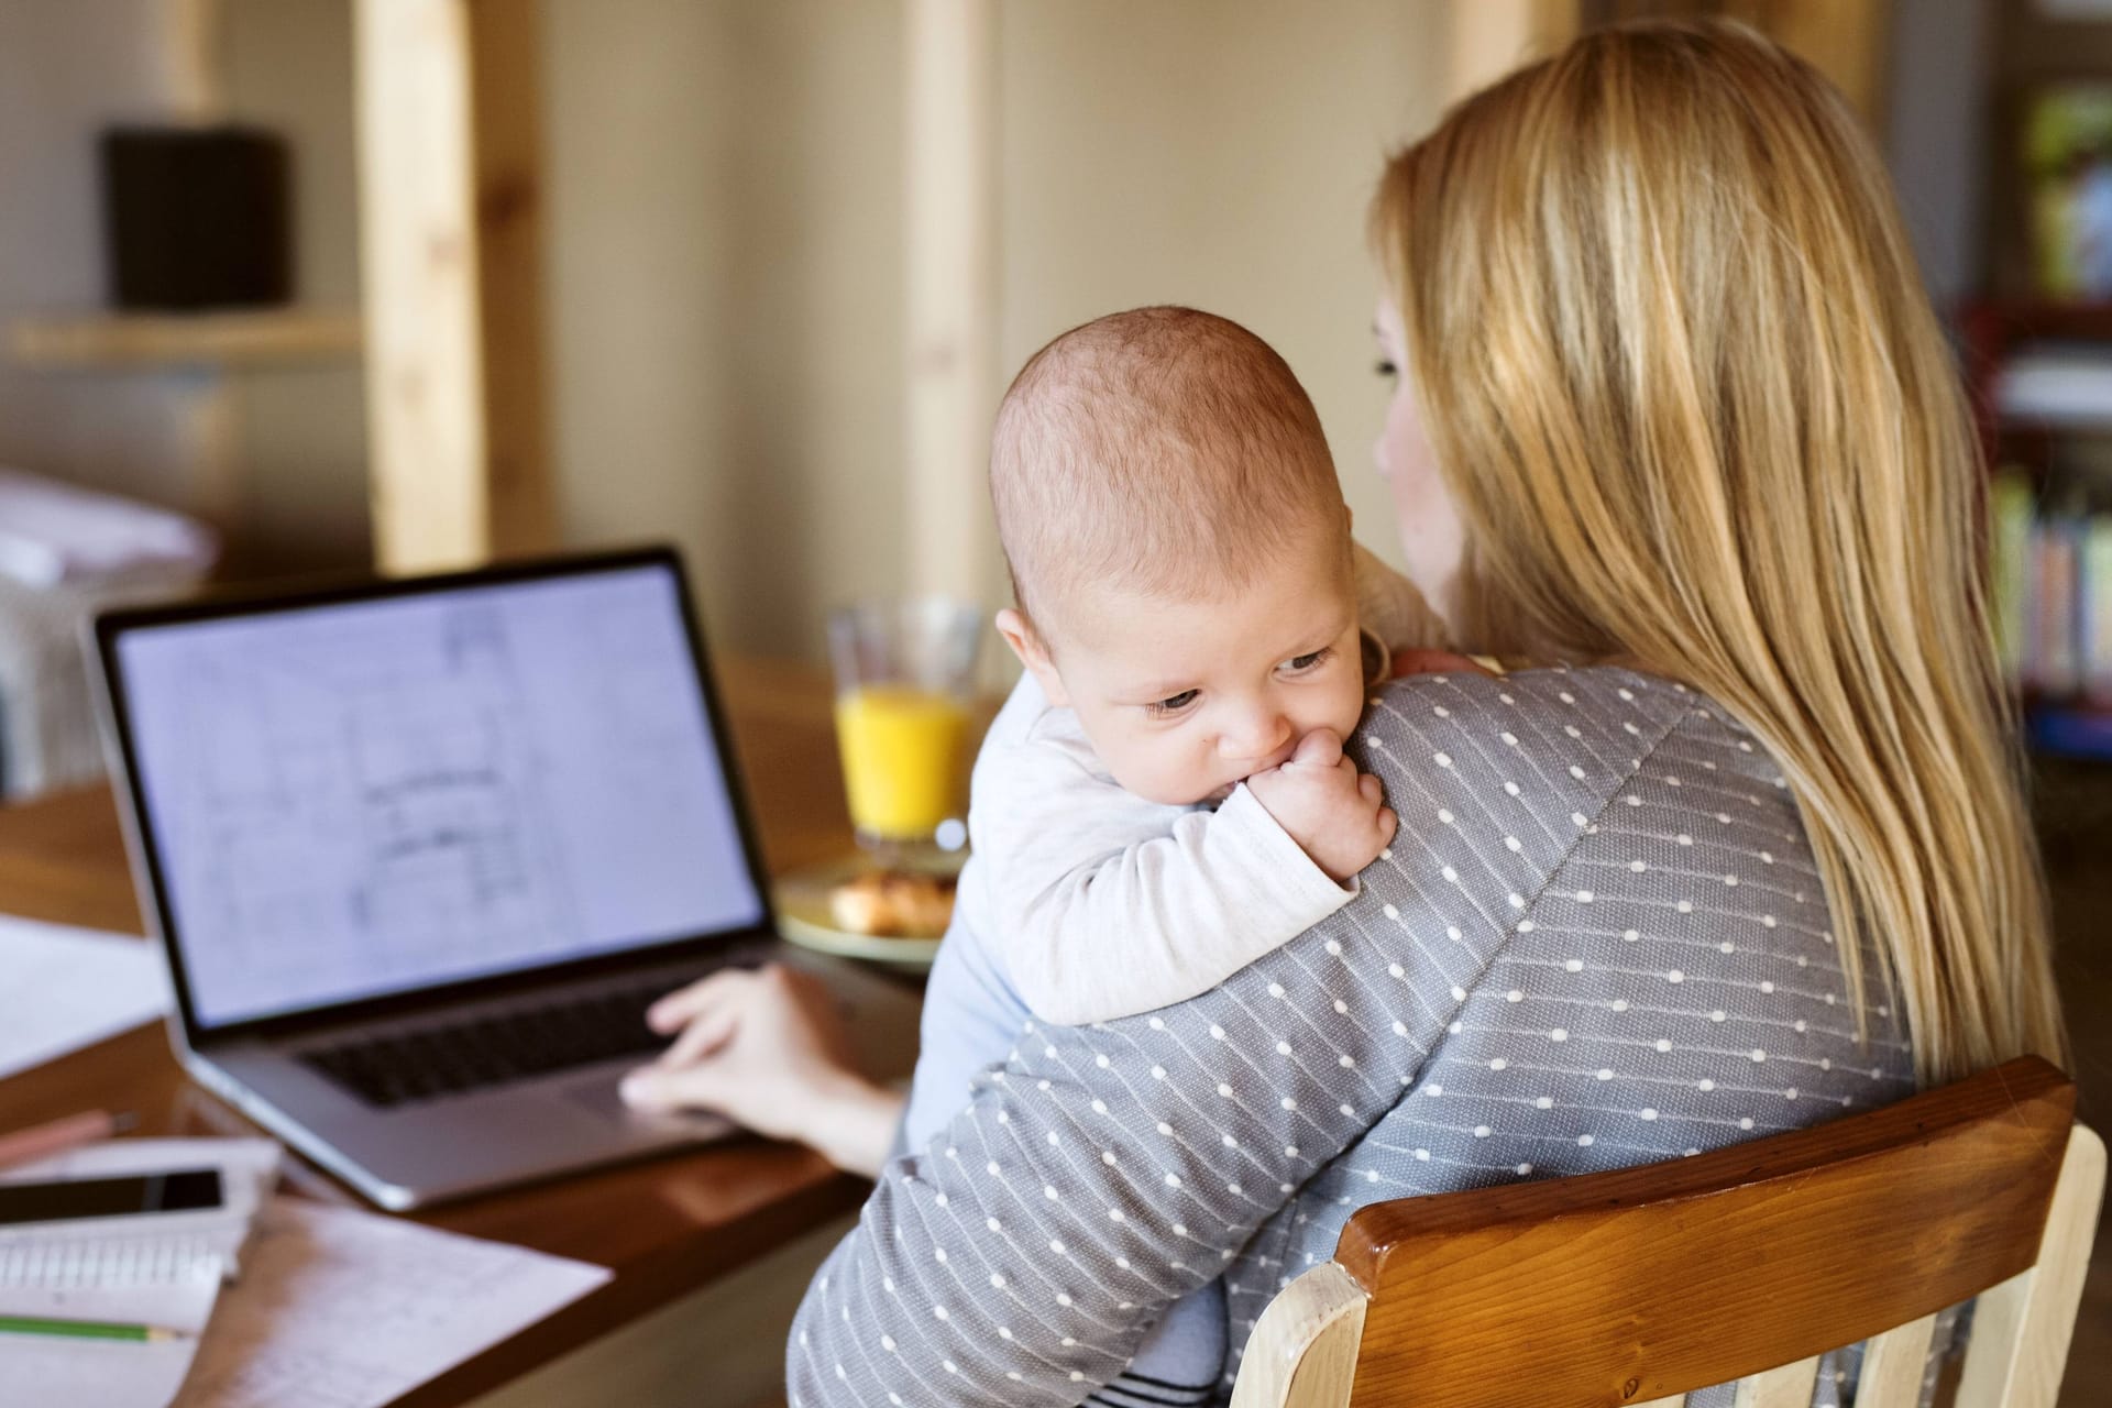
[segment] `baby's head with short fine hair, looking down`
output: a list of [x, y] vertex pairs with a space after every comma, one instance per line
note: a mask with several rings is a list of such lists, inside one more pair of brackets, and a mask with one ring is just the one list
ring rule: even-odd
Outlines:
[[997, 629], [1128, 792], [1191, 804], [1364, 705], [1350, 511], [1269, 344], [1136, 308], [1033, 355], [991, 498], [1018, 610]]

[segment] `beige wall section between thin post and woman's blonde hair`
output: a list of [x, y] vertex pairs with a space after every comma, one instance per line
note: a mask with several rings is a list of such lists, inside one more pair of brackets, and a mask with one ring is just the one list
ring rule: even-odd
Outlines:
[[1364, 207], [1440, 110], [1440, 0], [1035, 0], [1003, 8], [1003, 304], [1018, 367], [1147, 302], [1267, 338], [1320, 410], [1358, 536], [1398, 562], [1371, 469], [1379, 277]]

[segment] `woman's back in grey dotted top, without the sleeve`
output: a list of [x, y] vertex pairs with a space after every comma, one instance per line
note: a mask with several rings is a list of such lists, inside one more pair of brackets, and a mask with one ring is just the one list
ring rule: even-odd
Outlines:
[[[1869, 1041], [1856, 1041], [1825, 889], [1778, 768], [1709, 701], [1614, 669], [1459, 676], [1392, 695], [1366, 735], [1400, 773], [1438, 779], [1440, 811], [1417, 815], [1388, 770], [1396, 853], [1421, 849], [1426, 868], [1459, 876], [1453, 889], [1487, 889], [1510, 933], [1478, 965], [1464, 931], [1449, 937], [1455, 897], [1413, 861], [1366, 872], [1400, 929], [1371, 933], [1373, 948], [1404, 941], [1430, 965], [1428, 977], [1411, 960], [1385, 977], [1445, 1011], [1442, 1030], [1400, 1102], [1240, 1254], [1227, 1277], [1236, 1345], [1293, 1275], [1333, 1256], [1364, 1203], [1677, 1159], [1913, 1091], [1886, 994], [1873, 992]], [[1624, 773], [1609, 794], [1592, 785], [1607, 770]], [[1595, 815], [1567, 804], [1588, 794], [1603, 796]], [[1544, 884], [1514, 906], [1512, 878], [1535, 870]], [[1373, 979], [1345, 965], [1350, 982]]]

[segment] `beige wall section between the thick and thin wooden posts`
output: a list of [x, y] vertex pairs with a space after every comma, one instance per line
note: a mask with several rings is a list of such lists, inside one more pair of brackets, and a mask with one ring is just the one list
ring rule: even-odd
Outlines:
[[674, 538], [718, 642], [819, 659], [900, 585], [900, 6], [543, 15], [566, 532]]

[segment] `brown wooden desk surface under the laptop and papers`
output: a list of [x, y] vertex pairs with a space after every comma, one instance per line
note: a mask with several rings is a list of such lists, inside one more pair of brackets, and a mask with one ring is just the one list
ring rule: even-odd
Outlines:
[[[720, 661], [718, 676], [771, 870], [843, 855], [851, 825], [822, 676], [748, 661]], [[0, 808], [0, 912], [142, 931], [106, 787]], [[0, 1081], [0, 1129], [87, 1108], [135, 1110], [142, 1134], [262, 1134], [182, 1074], [161, 1024]], [[363, 1205], [291, 1150], [287, 1182]], [[391, 1408], [465, 1404], [853, 1210], [864, 1195], [864, 1182], [805, 1148], [735, 1140], [414, 1214], [617, 1275]]]

